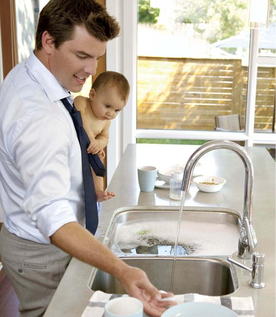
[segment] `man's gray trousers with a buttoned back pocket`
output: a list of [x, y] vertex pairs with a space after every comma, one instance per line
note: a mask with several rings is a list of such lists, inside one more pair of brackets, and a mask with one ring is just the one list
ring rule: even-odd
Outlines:
[[0, 231], [0, 255], [20, 301], [20, 317], [43, 316], [71, 256], [53, 244], [19, 238], [4, 225]]

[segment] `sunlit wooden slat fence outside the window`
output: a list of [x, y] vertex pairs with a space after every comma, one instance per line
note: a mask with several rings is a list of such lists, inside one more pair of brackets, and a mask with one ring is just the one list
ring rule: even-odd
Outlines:
[[[214, 130], [215, 116], [244, 122], [247, 69], [239, 59], [138, 58], [138, 129]], [[275, 68], [259, 68], [256, 127], [272, 128]]]

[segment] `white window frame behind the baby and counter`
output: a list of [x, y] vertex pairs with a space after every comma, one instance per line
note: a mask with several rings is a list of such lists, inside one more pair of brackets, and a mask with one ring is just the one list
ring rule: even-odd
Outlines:
[[[137, 0], [106, 0], [108, 12], [115, 16], [121, 25], [121, 38], [111, 41], [107, 46], [107, 70], [124, 74], [129, 80], [131, 95], [121, 120], [113, 122], [110, 131], [108, 150], [109, 175], [113, 175], [119, 158], [128, 144], [136, 143], [137, 138], [199, 139], [245, 141], [245, 146], [268, 145], [275, 147], [275, 133], [254, 132], [256, 76], [258, 64], [264, 58], [258, 57], [258, 30], [253, 29], [250, 40], [249, 73], [250, 84], [247, 92], [246, 121], [244, 132], [223, 131], [178, 131], [178, 130], [141, 130], [137, 129]], [[125, 31], [127, 30], [127, 31]], [[275, 58], [273, 59], [275, 63]], [[249, 106], [248, 106], [249, 105]], [[115, 121], [115, 120], [114, 120]], [[111, 179], [111, 178], [110, 178]], [[109, 179], [109, 180], [110, 180]]]

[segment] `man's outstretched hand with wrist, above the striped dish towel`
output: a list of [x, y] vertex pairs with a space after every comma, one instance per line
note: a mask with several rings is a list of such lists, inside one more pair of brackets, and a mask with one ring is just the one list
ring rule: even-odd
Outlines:
[[177, 303], [161, 298], [172, 297], [172, 293], [160, 293], [149, 281], [146, 273], [137, 267], [128, 266], [121, 277], [118, 277], [129, 296], [140, 299], [144, 305], [146, 314], [153, 317], [160, 317], [168, 306]]

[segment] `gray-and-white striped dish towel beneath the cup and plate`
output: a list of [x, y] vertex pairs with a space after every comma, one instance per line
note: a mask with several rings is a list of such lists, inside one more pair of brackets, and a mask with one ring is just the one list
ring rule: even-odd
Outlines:
[[[113, 298], [128, 296], [119, 294], [107, 294], [96, 291], [90, 298], [81, 317], [104, 317], [104, 305]], [[200, 294], [176, 295], [174, 299], [177, 304], [187, 303], [190, 301], [204, 301], [219, 304], [232, 309], [237, 316], [254, 317], [254, 306], [252, 297], [229, 297], [229, 296], [205, 296]], [[143, 317], [148, 317], [143, 314]]]

